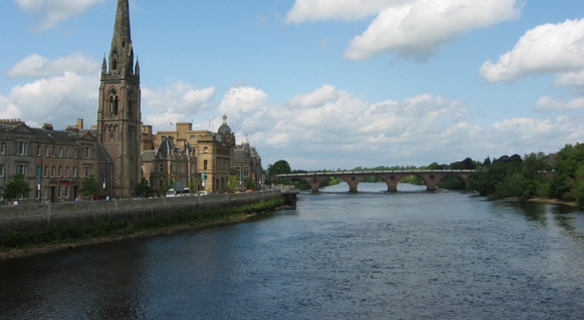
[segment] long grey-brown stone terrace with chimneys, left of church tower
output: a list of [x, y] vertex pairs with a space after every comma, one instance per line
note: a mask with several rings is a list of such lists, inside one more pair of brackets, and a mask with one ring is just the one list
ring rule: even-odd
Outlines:
[[82, 178], [98, 177], [100, 196], [111, 194], [112, 161], [82, 120], [66, 131], [51, 124], [32, 128], [16, 120], [0, 120], [0, 191], [15, 174], [23, 174], [29, 199], [67, 201], [80, 196]]

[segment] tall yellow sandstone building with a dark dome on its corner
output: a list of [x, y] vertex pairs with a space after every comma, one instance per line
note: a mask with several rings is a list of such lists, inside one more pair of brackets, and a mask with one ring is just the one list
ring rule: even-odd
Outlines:
[[235, 135], [223, 116], [223, 124], [217, 132], [193, 130], [191, 122], [179, 122], [176, 131], [159, 131], [154, 138], [155, 146], [163, 139], [172, 137], [174, 144], [184, 148], [189, 143], [197, 158], [199, 175], [198, 190], [208, 193], [227, 192], [230, 175], [234, 172]]

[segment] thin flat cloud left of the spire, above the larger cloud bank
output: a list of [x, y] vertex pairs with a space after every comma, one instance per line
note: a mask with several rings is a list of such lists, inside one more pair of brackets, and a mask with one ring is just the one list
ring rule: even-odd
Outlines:
[[63, 58], [50, 60], [37, 53], [32, 53], [16, 63], [6, 72], [8, 77], [51, 77], [63, 75], [65, 71], [75, 72], [78, 75], [95, 74], [99, 70], [97, 61], [82, 55], [72, 53]]

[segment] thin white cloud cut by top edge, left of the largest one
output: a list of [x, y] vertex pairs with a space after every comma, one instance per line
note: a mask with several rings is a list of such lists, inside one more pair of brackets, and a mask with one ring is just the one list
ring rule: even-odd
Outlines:
[[329, 19], [358, 20], [405, 0], [296, 0], [286, 14], [286, 23]]

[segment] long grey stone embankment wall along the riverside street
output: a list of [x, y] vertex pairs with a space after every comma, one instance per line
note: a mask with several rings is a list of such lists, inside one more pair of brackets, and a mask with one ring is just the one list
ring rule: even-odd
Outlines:
[[0, 233], [39, 231], [67, 224], [95, 224], [107, 219], [138, 221], [180, 211], [224, 210], [276, 197], [282, 197], [280, 191], [4, 206], [0, 207]]

